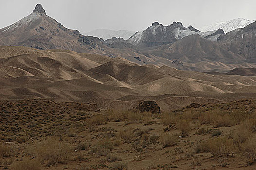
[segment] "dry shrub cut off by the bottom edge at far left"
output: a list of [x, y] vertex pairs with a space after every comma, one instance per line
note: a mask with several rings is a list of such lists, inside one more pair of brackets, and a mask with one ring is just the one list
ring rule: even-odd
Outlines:
[[15, 163], [13, 170], [40, 170], [40, 162], [36, 159], [23, 160]]

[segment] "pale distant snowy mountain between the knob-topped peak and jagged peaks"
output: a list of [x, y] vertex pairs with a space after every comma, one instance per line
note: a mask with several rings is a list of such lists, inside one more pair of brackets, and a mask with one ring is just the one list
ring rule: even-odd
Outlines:
[[93, 30], [87, 33], [82, 33], [82, 34], [102, 38], [104, 40], [110, 39], [112, 37], [123, 38], [126, 40], [134, 34], [134, 31], [128, 31], [128, 30], [115, 31], [115, 30], [108, 30], [108, 29], [97, 29], [97, 30]]

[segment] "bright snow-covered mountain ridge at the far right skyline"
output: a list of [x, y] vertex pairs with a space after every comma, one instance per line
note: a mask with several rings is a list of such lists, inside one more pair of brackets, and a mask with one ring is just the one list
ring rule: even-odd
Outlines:
[[230, 21], [223, 21], [223, 22], [212, 24], [212, 25], [204, 26], [201, 28], [201, 31], [207, 32], [212, 30], [218, 30], [219, 28], [221, 28], [225, 33], [228, 33], [237, 28], [244, 28], [253, 22], [255, 22], [255, 20], [251, 21], [248, 19], [238, 18]]

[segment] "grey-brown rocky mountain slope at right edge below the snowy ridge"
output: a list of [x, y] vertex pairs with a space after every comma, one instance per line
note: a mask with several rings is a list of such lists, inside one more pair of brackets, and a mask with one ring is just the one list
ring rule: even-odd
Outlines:
[[256, 62], [256, 22], [221, 35], [218, 42], [225, 44], [228, 51], [244, 57], [248, 62]]

